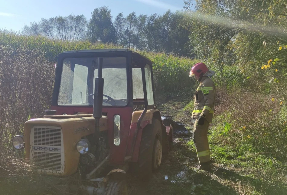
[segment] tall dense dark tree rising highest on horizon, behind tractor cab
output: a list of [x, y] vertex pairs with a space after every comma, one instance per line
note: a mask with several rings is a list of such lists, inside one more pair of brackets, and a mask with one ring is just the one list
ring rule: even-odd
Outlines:
[[91, 13], [92, 18], [88, 24], [88, 39], [95, 43], [113, 43], [115, 41], [115, 28], [112, 23], [111, 11], [106, 6], [96, 8]]

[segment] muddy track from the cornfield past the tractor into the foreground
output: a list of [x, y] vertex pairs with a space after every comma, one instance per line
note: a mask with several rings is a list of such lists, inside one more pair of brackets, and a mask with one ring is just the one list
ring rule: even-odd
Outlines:
[[[191, 150], [192, 129], [194, 120], [184, 107], [189, 99], [173, 97], [165, 99], [158, 109], [162, 116], [172, 117], [172, 120], [186, 127], [188, 133], [179, 131], [174, 133], [174, 144], [168, 155], [163, 157], [160, 169], [154, 173], [151, 181], [142, 183], [135, 177], [128, 178], [129, 194], [155, 195], [155, 194], [238, 194], [234, 190], [220, 183], [220, 178], [228, 172], [241, 171], [240, 169], [222, 168], [214, 163], [213, 170], [208, 173], [197, 170], [199, 166], [196, 152]], [[178, 130], [178, 129], [177, 129]], [[203, 184], [210, 183], [214, 192]]]

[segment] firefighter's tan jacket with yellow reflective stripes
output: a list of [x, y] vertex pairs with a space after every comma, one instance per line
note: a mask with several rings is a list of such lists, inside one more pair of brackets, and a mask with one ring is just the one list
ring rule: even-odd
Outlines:
[[209, 77], [202, 77], [200, 85], [194, 94], [193, 118], [203, 116], [211, 123], [214, 113], [215, 85]]

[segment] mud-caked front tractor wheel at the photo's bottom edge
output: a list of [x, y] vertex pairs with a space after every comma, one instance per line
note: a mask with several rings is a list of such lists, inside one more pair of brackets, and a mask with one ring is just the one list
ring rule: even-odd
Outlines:
[[128, 195], [126, 181], [111, 180], [106, 187], [106, 195]]

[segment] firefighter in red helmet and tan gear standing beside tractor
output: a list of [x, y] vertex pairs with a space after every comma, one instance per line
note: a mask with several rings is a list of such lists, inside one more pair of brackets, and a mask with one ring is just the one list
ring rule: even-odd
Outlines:
[[195, 64], [189, 73], [189, 77], [194, 76], [200, 83], [194, 94], [192, 118], [196, 120], [192, 137], [200, 163], [198, 169], [205, 171], [211, 169], [207, 131], [214, 113], [215, 85], [209, 78], [214, 73], [204, 63]]

